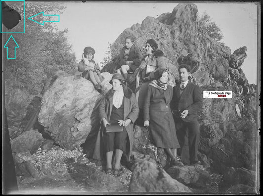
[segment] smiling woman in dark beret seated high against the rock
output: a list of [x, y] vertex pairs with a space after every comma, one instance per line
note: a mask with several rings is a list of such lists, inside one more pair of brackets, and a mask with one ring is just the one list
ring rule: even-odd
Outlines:
[[139, 118], [137, 124], [143, 126], [143, 104], [148, 88], [148, 84], [155, 78], [154, 72], [158, 67], [166, 68], [164, 54], [161, 50], [157, 50], [158, 44], [154, 39], [148, 39], [146, 42], [146, 55], [139, 66], [136, 74], [135, 95], [139, 106]]

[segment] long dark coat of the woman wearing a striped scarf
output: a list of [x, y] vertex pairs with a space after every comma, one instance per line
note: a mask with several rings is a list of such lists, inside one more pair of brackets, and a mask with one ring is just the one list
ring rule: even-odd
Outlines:
[[173, 88], [166, 90], [148, 86], [144, 103], [144, 120], [150, 122], [150, 132], [154, 145], [161, 148], [180, 148], [170, 102]]

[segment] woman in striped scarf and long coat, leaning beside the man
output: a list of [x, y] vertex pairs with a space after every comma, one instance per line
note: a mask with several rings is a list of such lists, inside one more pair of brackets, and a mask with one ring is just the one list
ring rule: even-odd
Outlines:
[[183, 166], [177, 158], [177, 148], [180, 148], [180, 145], [170, 108], [173, 88], [167, 84], [168, 71], [158, 68], [154, 75], [155, 80], [149, 83], [144, 102], [144, 126], [150, 125], [153, 144], [164, 148], [171, 158], [171, 166]]

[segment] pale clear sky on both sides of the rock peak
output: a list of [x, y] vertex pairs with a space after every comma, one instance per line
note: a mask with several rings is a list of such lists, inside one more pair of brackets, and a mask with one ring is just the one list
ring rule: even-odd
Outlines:
[[[176, 1], [175, 1], [176, 2]], [[194, 3], [194, 1], [193, 1]], [[68, 28], [68, 40], [77, 60], [83, 49], [95, 49], [94, 60], [100, 63], [109, 43], [113, 43], [124, 29], [141, 24], [147, 16], [157, 18], [172, 12], [174, 2], [67, 2], [66, 10], [57, 23], [60, 29]], [[220, 41], [230, 47], [231, 53], [247, 46], [247, 58], [241, 66], [249, 83], [257, 84], [257, 5], [254, 3], [195, 3], [198, 14], [206, 12], [221, 29]], [[45, 13], [56, 14], [56, 13]]]

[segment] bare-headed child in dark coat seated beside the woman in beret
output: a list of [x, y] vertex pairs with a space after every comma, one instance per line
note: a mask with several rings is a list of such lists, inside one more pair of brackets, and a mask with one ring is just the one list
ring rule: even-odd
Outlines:
[[[125, 80], [128, 78], [128, 72], [134, 72], [141, 63], [142, 53], [134, 46], [134, 37], [125, 38], [125, 46], [120, 51], [120, 62], [117, 73], [122, 73]], [[120, 67], [120, 68], [119, 68]]]

